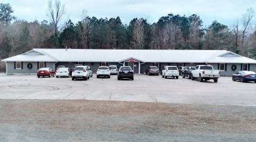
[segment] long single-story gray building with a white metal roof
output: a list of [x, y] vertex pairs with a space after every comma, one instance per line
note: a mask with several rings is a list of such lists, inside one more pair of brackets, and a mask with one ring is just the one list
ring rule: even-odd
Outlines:
[[231, 76], [240, 70], [256, 71], [256, 60], [225, 50], [151, 50], [151, 49], [46, 49], [31, 51], [2, 60], [6, 74], [31, 74], [39, 68], [57, 68], [74, 64], [91, 66], [96, 72], [99, 66], [130, 65], [134, 73], [145, 73], [150, 65], [195, 66], [211, 64], [222, 76]]

